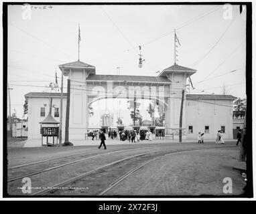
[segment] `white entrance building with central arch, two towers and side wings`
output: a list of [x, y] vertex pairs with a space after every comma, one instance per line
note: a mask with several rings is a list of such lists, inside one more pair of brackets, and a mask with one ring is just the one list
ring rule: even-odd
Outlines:
[[[184, 94], [182, 138], [195, 140], [198, 132], [204, 139], [215, 139], [218, 130], [224, 138], [233, 138], [233, 100], [230, 95], [186, 94], [187, 79], [196, 70], [174, 64], [158, 76], [97, 75], [94, 66], [76, 61], [59, 66], [70, 80], [70, 90], [64, 94], [62, 139], [66, 126], [66, 102], [70, 98], [68, 122], [69, 140], [86, 140], [89, 106], [107, 98], [143, 98], [155, 100], [165, 110], [165, 137], [178, 138], [180, 107]], [[183, 92], [184, 93], [183, 93]], [[40, 122], [49, 112], [52, 97], [52, 116], [60, 121], [60, 93], [31, 92], [28, 100], [28, 138], [40, 138]]]

